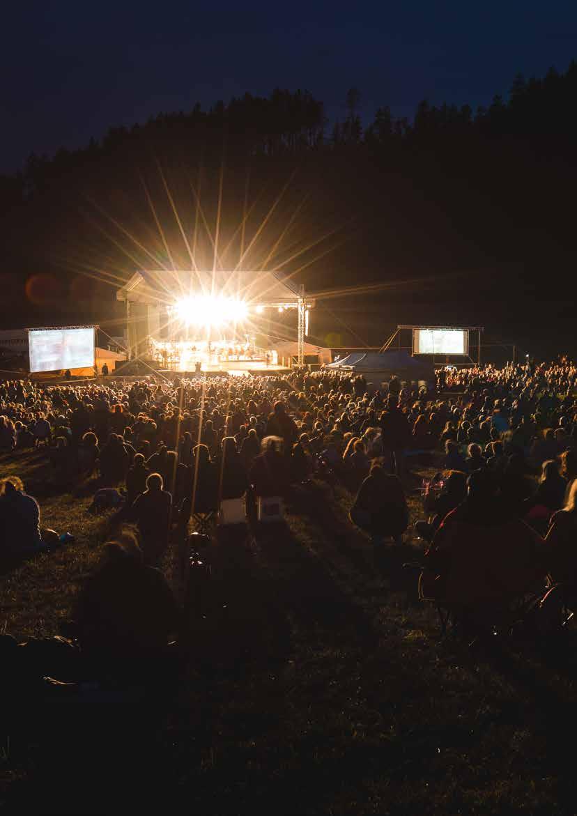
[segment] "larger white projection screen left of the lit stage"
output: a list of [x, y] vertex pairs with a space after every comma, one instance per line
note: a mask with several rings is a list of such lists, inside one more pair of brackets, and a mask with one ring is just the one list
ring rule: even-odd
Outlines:
[[29, 330], [30, 373], [94, 366], [94, 326]]

